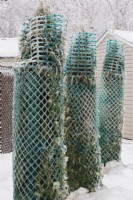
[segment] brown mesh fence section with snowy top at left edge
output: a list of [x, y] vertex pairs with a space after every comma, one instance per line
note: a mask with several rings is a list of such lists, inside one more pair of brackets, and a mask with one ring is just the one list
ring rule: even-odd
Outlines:
[[12, 69], [0, 67], [0, 153], [12, 151]]

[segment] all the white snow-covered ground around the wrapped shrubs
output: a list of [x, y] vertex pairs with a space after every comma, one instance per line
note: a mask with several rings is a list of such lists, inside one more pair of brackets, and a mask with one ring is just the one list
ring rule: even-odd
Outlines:
[[[103, 188], [88, 193], [84, 188], [67, 200], [133, 200], [133, 141], [123, 140], [122, 162], [111, 162], [104, 169]], [[13, 200], [12, 154], [0, 155], [0, 200]]]

